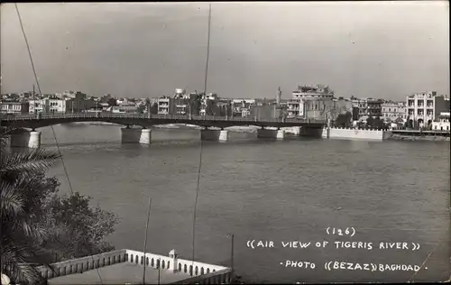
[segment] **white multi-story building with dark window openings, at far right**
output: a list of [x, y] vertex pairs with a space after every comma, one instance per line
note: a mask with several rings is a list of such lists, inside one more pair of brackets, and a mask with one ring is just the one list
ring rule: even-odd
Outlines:
[[406, 97], [408, 120], [415, 125], [431, 124], [438, 119], [441, 112], [449, 110], [449, 101], [444, 96], [437, 96], [436, 91], [427, 91]]

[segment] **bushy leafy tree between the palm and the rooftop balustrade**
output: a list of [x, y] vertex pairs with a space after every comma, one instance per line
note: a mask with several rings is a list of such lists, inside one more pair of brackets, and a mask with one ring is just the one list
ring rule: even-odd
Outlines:
[[60, 183], [57, 179], [43, 179], [47, 185], [39, 218], [48, 229], [41, 248], [51, 254], [55, 262], [104, 253], [114, 250], [105, 242], [105, 237], [114, 232], [117, 224], [115, 214], [90, 207], [91, 198], [75, 192], [73, 195], [58, 195]]

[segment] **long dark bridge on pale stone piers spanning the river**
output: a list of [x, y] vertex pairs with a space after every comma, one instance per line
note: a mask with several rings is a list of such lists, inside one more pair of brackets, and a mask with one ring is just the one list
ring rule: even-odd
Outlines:
[[[231, 126], [257, 126], [259, 138], [285, 137], [286, 127], [299, 127], [304, 134], [320, 137], [325, 125], [324, 121], [305, 119], [257, 119], [247, 117], [213, 116], [213, 115], [141, 115], [141, 114], [113, 114], [113, 113], [78, 113], [78, 114], [30, 114], [30, 115], [0, 115], [0, 126], [14, 129], [31, 129], [15, 132], [11, 136], [12, 146], [39, 147], [41, 132], [36, 129], [54, 124], [69, 124], [78, 122], [107, 122], [122, 124], [122, 142], [151, 143], [151, 129], [153, 125], [162, 124], [191, 124], [202, 127], [201, 139], [213, 141], [227, 141], [228, 130]], [[132, 126], [141, 126], [133, 128]], [[215, 129], [212, 129], [215, 128]], [[269, 129], [272, 128], [272, 129]], [[300, 132], [300, 131], [299, 131]]]

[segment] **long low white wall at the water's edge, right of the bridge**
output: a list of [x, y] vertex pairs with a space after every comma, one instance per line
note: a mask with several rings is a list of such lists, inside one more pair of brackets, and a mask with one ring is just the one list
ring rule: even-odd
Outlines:
[[382, 141], [387, 132], [382, 130], [362, 130], [351, 128], [324, 128], [321, 136], [323, 139]]

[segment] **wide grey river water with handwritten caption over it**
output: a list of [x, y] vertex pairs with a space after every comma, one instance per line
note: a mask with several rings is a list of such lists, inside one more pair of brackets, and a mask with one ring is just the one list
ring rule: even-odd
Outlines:
[[[120, 217], [109, 238], [116, 249], [143, 250], [152, 197], [148, 251], [176, 249], [191, 258], [198, 130], [153, 129], [150, 146], [121, 144], [115, 125], [54, 130], [74, 191]], [[54, 149], [51, 128], [41, 131], [42, 147]], [[449, 142], [275, 141], [229, 133], [229, 142], [202, 143], [196, 260], [229, 266], [227, 234], [234, 233], [235, 271], [248, 282], [449, 278]], [[50, 175], [69, 193], [60, 164]], [[346, 228], [355, 234], [332, 233]], [[389, 266], [366, 271], [372, 263]], [[421, 270], [391, 271], [391, 264]]]

